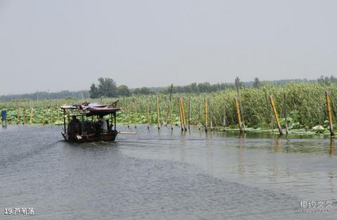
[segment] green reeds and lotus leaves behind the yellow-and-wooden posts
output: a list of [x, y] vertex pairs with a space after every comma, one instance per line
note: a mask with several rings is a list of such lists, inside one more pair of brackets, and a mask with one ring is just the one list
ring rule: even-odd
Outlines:
[[[326, 128], [326, 100], [325, 91], [331, 93], [331, 110], [333, 121], [336, 122], [337, 84], [324, 85], [322, 83], [286, 83], [285, 85], [265, 84], [260, 88], [245, 87], [240, 90], [241, 102], [244, 110], [245, 124], [249, 128], [270, 128], [270, 103], [265, 100], [265, 92], [272, 95], [275, 100], [282, 127], [285, 125], [284, 106], [287, 109], [289, 128], [307, 128], [322, 125]], [[286, 103], [284, 104], [284, 94]], [[183, 93], [172, 95], [173, 123], [179, 125], [178, 98], [182, 97], [187, 109], [187, 100], [191, 99], [190, 123], [191, 125], [204, 124], [204, 99], [209, 100], [209, 108], [213, 113], [214, 126], [223, 126], [225, 121], [229, 128], [237, 128], [237, 115], [234, 106], [234, 97], [237, 92], [227, 89], [211, 93]], [[170, 123], [167, 118], [169, 111], [169, 95], [138, 95], [136, 97], [85, 99], [86, 102], [98, 102], [110, 104], [119, 99], [122, 111], [117, 114], [117, 121], [122, 124], [134, 123], [134, 101], [137, 100], [138, 123], [147, 123], [147, 102], [150, 104], [150, 117], [153, 125], [157, 124], [157, 97], [159, 98], [160, 122]], [[29, 123], [30, 111], [34, 109], [32, 123], [48, 124], [62, 123], [62, 111], [57, 109], [62, 104], [75, 104], [83, 102], [83, 99], [49, 99], [39, 102], [33, 100], [15, 100], [11, 102], [0, 102], [1, 109], [7, 109], [8, 120], [11, 123], [22, 123], [24, 114]], [[18, 106], [20, 106], [18, 118]], [[130, 108], [131, 106], [131, 108]], [[26, 112], [26, 113], [25, 113]], [[59, 117], [58, 117], [59, 114]], [[225, 120], [224, 120], [225, 117]], [[274, 120], [274, 118], [272, 118]]]

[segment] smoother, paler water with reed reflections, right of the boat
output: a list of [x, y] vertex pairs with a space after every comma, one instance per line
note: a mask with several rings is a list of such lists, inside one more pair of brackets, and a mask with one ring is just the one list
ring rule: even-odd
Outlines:
[[[138, 132], [141, 137], [142, 131]], [[300, 199], [337, 201], [331, 187], [334, 181], [336, 184], [333, 170], [337, 160], [331, 158], [335, 155], [334, 139], [308, 139], [296, 135], [280, 137], [266, 133], [204, 134], [197, 130], [190, 134], [175, 132], [170, 135], [173, 135], [169, 136], [173, 147], [170, 153], [165, 147], [165, 135], [152, 137], [157, 144], [151, 148], [147, 142], [138, 142], [138, 148], [128, 143], [121, 151], [137, 158], [189, 163], [219, 178], [281, 190]]]

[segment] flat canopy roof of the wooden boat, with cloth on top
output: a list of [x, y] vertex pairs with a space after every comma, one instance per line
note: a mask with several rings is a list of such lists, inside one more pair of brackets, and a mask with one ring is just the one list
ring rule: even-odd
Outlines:
[[108, 114], [116, 114], [120, 108], [116, 108], [109, 104], [98, 104], [84, 102], [82, 104], [63, 105], [61, 109], [79, 109], [81, 114], [86, 116], [106, 116]]

